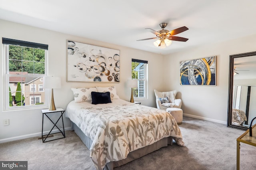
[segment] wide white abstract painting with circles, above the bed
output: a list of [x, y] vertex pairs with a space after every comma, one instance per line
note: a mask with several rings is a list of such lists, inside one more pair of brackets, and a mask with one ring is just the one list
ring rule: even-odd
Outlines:
[[67, 81], [120, 82], [120, 50], [67, 40]]

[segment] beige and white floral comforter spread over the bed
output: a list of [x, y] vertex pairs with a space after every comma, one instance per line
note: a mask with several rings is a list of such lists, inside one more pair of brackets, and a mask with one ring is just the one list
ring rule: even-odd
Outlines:
[[180, 128], [170, 113], [122, 99], [98, 105], [72, 101], [66, 117], [92, 140], [90, 157], [97, 169], [168, 136], [184, 146]]

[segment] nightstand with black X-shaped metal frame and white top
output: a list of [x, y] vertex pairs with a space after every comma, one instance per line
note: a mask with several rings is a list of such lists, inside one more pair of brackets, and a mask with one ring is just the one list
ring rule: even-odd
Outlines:
[[[58, 118], [58, 120], [56, 121], [56, 123], [54, 123], [54, 121], [52, 121], [52, 119], [50, 119], [50, 117], [48, 117], [48, 114], [56, 114], [60, 112], [60, 117]], [[63, 123], [63, 113], [65, 112], [64, 109], [62, 108], [57, 108], [55, 111], [49, 111], [49, 109], [44, 109], [42, 110], [42, 114], [43, 114], [43, 120], [42, 120], [42, 141], [43, 142], [49, 142], [49, 141], [52, 141], [52, 140], [57, 140], [57, 139], [62, 139], [62, 138], [65, 138], [65, 130], [64, 130], [64, 123]], [[47, 135], [43, 135], [43, 131], [44, 131], [44, 116], [48, 117], [48, 119], [54, 124], [54, 126], [52, 127], [52, 129], [54, 127], [58, 128], [58, 130], [60, 132], [56, 132], [56, 133], [62, 133], [62, 136], [60, 138], [56, 138], [56, 139], [52, 139], [52, 140], [47, 140], [46, 141], [46, 138], [48, 138], [48, 136], [50, 134], [55, 134], [55, 133], [51, 133], [52, 132], [52, 129], [50, 130], [50, 132], [47, 134]], [[58, 121], [60, 120], [60, 118], [62, 119], [62, 127], [63, 127], [63, 132], [60, 130], [60, 128], [56, 125], [58, 123]], [[44, 136], [46, 136], [45, 138], [43, 138]]]

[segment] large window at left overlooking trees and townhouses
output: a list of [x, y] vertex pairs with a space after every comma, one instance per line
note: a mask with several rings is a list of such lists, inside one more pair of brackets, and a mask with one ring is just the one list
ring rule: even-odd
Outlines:
[[35, 105], [45, 107], [41, 80], [46, 75], [48, 45], [8, 38], [2, 38], [2, 43], [5, 110], [35, 107]]

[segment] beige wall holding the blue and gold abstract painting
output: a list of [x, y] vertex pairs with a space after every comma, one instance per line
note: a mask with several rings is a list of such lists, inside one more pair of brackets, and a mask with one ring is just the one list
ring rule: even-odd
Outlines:
[[[202, 45], [164, 57], [165, 90], [176, 89], [185, 114], [209, 121], [227, 123], [229, 56], [256, 51], [256, 35], [221, 43]], [[216, 86], [181, 86], [179, 63], [216, 55]], [[172, 67], [168, 67], [172, 65]]]

